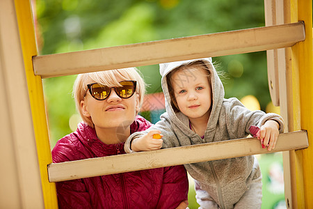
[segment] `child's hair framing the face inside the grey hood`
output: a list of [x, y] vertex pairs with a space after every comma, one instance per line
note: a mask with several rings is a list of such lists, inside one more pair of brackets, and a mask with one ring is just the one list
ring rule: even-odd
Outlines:
[[191, 63], [185, 63], [183, 65], [180, 65], [179, 67], [177, 67], [174, 70], [170, 71], [168, 73], [168, 75], [166, 75], [166, 83], [168, 84], [168, 93], [170, 94], [170, 104], [172, 106], [172, 109], [175, 112], [179, 111], [179, 107], [178, 107], [178, 104], [177, 104], [177, 101], [176, 101], [176, 98], [175, 98], [174, 89], [173, 89], [173, 86], [172, 86], [172, 82], [173, 82], [172, 81], [172, 75], [174, 75], [175, 72], [180, 72], [182, 70], [193, 70], [195, 68], [200, 68], [200, 69], [203, 69], [203, 70], [207, 71], [209, 84], [211, 85], [211, 79], [210, 79], [211, 71], [210, 71], [209, 67], [211, 67], [211, 65], [207, 66], [202, 60], [193, 61]]

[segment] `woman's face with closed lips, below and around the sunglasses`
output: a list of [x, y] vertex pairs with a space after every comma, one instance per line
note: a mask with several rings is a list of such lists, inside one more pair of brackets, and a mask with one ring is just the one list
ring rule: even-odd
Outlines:
[[[118, 79], [122, 82], [122, 79]], [[95, 83], [90, 80], [88, 84]], [[111, 88], [111, 93], [106, 100], [95, 100], [89, 91], [81, 101], [83, 115], [91, 117], [95, 129], [127, 128], [134, 122], [136, 112], [139, 110], [138, 94], [134, 93], [131, 98], [122, 99]]]

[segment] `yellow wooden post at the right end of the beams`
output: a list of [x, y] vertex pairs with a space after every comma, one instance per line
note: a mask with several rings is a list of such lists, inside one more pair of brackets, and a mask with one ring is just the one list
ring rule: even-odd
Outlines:
[[[313, 206], [313, 62], [312, 62], [312, 1], [291, 1], [291, 22], [305, 22], [305, 41], [292, 47], [294, 88], [294, 130], [307, 130], [309, 148], [297, 150], [297, 208]], [[291, 131], [291, 130], [289, 130]]]

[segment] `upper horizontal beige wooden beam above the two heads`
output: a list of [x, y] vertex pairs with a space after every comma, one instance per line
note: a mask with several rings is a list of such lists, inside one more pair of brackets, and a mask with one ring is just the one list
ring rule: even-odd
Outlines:
[[33, 57], [42, 78], [291, 47], [305, 40], [303, 22]]

